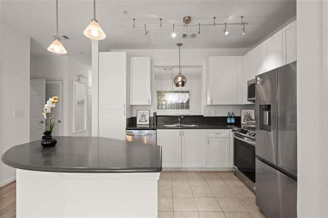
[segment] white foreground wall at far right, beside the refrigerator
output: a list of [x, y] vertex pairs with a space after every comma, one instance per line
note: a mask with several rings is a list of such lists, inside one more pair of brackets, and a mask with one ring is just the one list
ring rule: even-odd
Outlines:
[[298, 217], [328, 216], [327, 16], [325, 1], [297, 1]]

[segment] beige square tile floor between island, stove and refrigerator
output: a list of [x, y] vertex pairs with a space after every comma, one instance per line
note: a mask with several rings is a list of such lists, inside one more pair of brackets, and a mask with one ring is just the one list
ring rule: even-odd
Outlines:
[[230, 171], [162, 171], [158, 217], [265, 217], [255, 194]]

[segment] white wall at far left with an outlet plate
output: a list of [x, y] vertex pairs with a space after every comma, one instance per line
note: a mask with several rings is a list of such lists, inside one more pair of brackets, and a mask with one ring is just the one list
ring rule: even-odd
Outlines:
[[[1, 21], [1, 156], [10, 147], [30, 141], [30, 37]], [[24, 117], [13, 118], [13, 110]], [[16, 177], [16, 171], [0, 164], [0, 186]]]

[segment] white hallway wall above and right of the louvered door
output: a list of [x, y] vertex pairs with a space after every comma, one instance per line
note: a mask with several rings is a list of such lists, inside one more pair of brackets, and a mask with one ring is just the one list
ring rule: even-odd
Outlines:
[[[90, 70], [89, 67], [69, 56], [49, 55], [31, 57], [31, 79], [63, 80], [63, 97], [59, 100], [63, 102], [63, 117], [61, 118], [61, 123], [63, 125], [64, 136], [88, 136], [87, 130], [74, 134], [72, 133], [72, 84], [73, 80], [77, 81], [78, 74], [83, 74], [85, 77], [88, 77]], [[88, 82], [86, 82], [86, 84], [88, 86]]]

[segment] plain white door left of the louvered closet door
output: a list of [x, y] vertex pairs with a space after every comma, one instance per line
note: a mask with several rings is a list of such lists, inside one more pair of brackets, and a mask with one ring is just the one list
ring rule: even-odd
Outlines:
[[40, 140], [45, 131], [43, 108], [46, 99], [46, 80], [30, 80], [30, 141]]

